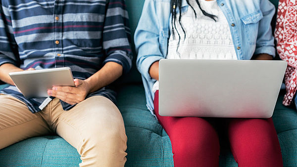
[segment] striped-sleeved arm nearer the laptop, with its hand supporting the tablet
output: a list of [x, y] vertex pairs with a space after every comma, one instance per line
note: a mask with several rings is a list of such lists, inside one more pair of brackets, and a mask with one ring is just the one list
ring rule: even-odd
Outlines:
[[102, 33], [102, 46], [106, 55], [103, 67], [84, 81], [75, 79], [75, 87], [54, 86], [48, 91], [50, 96], [73, 105], [85, 100], [89, 93], [114, 82], [131, 69], [131, 35], [128, 28], [129, 20], [125, 1], [109, 0], [109, 4], [106, 5], [107, 10]]

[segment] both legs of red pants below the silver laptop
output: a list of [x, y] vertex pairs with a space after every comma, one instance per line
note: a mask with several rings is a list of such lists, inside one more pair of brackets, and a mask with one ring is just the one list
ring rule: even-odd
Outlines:
[[[162, 117], [159, 92], [154, 98], [155, 115], [167, 132], [174, 167], [218, 167], [220, 145], [210, 118]], [[213, 118], [215, 120], [215, 118]], [[220, 119], [217, 119], [220, 120]], [[224, 120], [230, 148], [239, 167], [282, 167], [282, 153], [272, 119]]]

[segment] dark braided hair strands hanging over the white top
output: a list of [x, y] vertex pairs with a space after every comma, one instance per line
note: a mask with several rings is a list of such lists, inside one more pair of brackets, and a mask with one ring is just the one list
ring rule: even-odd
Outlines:
[[[202, 12], [203, 15], [205, 15], [205, 16], [207, 16], [207, 17], [213, 19], [214, 21], [216, 21], [215, 18], [217, 18], [217, 16], [207, 13], [205, 10], [203, 10], [203, 9], [201, 8], [201, 5], [200, 5], [199, 1], [196, 0], [196, 2], [197, 2], [198, 6], [199, 6], [199, 9], [201, 10], [201, 12]], [[190, 4], [189, 0], [187, 0], [187, 3], [188, 3], [189, 6], [194, 10], [195, 17], [197, 18], [197, 13], [196, 13], [195, 9], [193, 8], [193, 6]], [[174, 28], [174, 29], [176, 30], [176, 32], [177, 32], [177, 34], [178, 34], [178, 37], [179, 37], [179, 40], [178, 40], [178, 46], [179, 46], [179, 43], [180, 43], [180, 41], [181, 41], [181, 36], [180, 36], [179, 32], [177, 31], [176, 24], [175, 24], [176, 19], [177, 19], [177, 18], [176, 18], [176, 15], [177, 15], [176, 9], [177, 9], [177, 8], [179, 9], [179, 11], [181, 11], [181, 8], [182, 8], [182, 0], [171, 0], [171, 2], [170, 2], [170, 12], [171, 12], [171, 14], [172, 14], [172, 18], [171, 18], [171, 26], [172, 26], [172, 28]], [[186, 39], [186, 32], [185, 32], [185, 30], [184, 30], [184, 28], [183, 28], [183, 26], [182, 26], [181, 18], [182, 18], [182, 15], [181, 15], [181, 12], [180, 12], [180, 15], [179, 15], [179, 18], [178, 18], [178, 22], [179, 22], [179, 24], [181, 25], [181, 28], [182, 28], [182, 30], [183, 30], [183, 32], [184, 32], [184, 35], [185, 35], [184, 40], [185, 40], [185, 39]], [[173, 25], [173, 24], [174, 24], [174, 25]], [[173, 27], [173, 26], [174, 26], [174, 27]], [[173, 37], [175, 36], [174, 31], [172, 31], [172, 35], [173, 35]], [[177, 48], [177, 49], [178, 49], [178, 48]]]

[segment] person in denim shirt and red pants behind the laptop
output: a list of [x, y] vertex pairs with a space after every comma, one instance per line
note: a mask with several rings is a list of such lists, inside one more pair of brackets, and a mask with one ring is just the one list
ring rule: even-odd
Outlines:
[[[176, 167], [218, 166], [220, 149], [215, 123], [220, 123], [219, 129], [226, 130], [231, 151], [239, 166], [280, 167], [281, 149], [271, 118], [205, 119], [158, 115], [158, 84], [156, 84], [158, 61], [164, 58], [176, 58], [175, 55], [191, 59], [192, 53], [187, 53], [187, 49], [193, 48], [187, 43], [197, 40], [193, 38], [197, 36], [193, 32], [201, 32], [202, 29], [198, 30], [198, 26], [202, 25], [198, 24], [199, 21], [203, 20], [204, 25], [204, 21], [208, 19], [207, 22], [213, 26], [220, 23], [227, 27], [228, 30], [225, 29], [229, 33], [227, 38], [231, 39], [228, 46], [232, 46], [232, 49], [229, 49], [230, 52], [227, 49], [228, 53], [224, 54], [235, 55], [230, 56], [232, 57], [230, 59], [272, 60], [275, 56], [274, 38], [270, 27], [275, 8], [269, 0], [206, 1], [212, 1], [210, 6], [219, 10], [212, 11], [210, 7], [204, 11], [204, 7], [208, 5], [205, 0], [145, 1], [134, 40], [138, 53], [137, 68], [142, 74], [148, 110], [157, 117], [170, 137]], [[189, 12], [192, 12], [192, 20], [197, 24], [189, 25], [191, 22]], [[220, 34], [220, 31], [221, 29], [218, 29], [212, 33]], [[208, 43], [211, 43], [207, 45], [209, 50], [216, 49], [215, 38], [209, 40]], [[200, 41], [203, 41], [203, 38]], [[200, 47], [197, 43], [191, 44], [196, 44], [195, 48]], [[176, 50], [173, 50], [174, 48]], [[209, 53], [203, 53], [203, 55], [196, 54], [195, 58], [214, 57], [209, 56]]]

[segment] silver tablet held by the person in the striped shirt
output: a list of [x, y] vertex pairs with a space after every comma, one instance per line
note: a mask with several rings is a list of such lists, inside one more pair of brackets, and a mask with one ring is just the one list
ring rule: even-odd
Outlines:
[[75, 86], [69, 67], [9, 73], [26, 98], [49, 97], [52, 86]]

